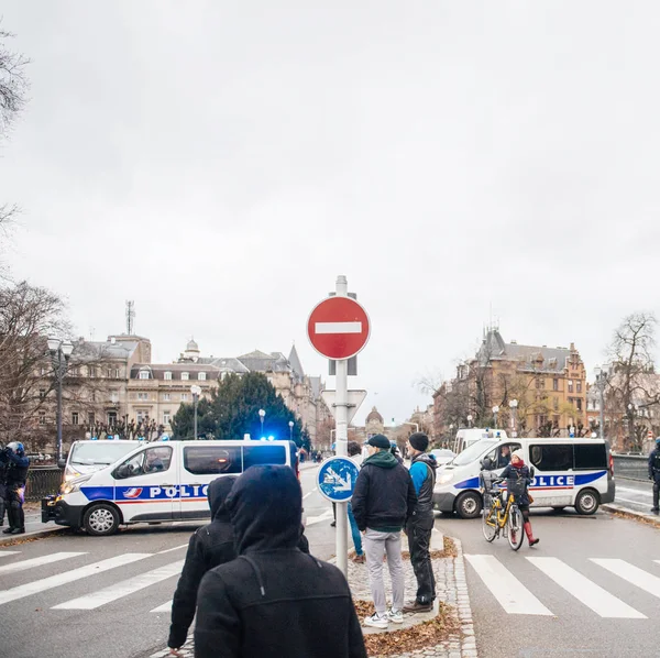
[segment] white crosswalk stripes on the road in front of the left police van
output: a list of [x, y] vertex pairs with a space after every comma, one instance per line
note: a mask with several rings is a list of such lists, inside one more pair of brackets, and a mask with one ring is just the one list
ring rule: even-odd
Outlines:
[[[122, 568], [141, 561], [146, 562], [150, 558], [179, 550], [186, 546], [187, 545], [177, 546], [173, 549], [160, 551], [158, 553], [127, 552], [86, 564], [80, 564], [80, 562], [85, 560], [86, 556], [87, 559], [89, 559], [88, 552], [63, 551], [54, 552], [47, 556], [40, 556], [36, 558], [16, 560], [16, 556], [20, 556], [21, 551], [0, 550], [0, 559], [14, 558], [14, 561], [9, 563], [7, 563], [4, 560], [0, 561], [0, 588], [2, 586], [3, 579], [10, 575], [13, 577], [18, 573], [25, 575], [25, 573], [31, 570], [37, 570], [37, 568], [44, 568], [48, 566], [52, 566], [54, 569], [58, 570], [57, 573], [46, 575], [45, 578], [36, 578], [29, 580], [29, 582], [0, 590], [0, 610], [3, 605], [33, 596], [35, 594], [41, 594], [42, 592], [48, 590], [62, 592], [64, 597], [64, 601], [53, 605], [51, 610], [97, 610], [103, 605], [117, 602], [124, 596], [142, 592], [146, 588], [169, 579], [173, 579], [172, 586], [168, 590], [168, 594], [172, 596], [176, 586], [176, 578], [182, 572], [185, 560], [176, 559], [166, 564], [156, 567], [155, 569], [142, 571], [131, 578], [125, 578], [125, 572]], [[35, 571], [35, 573], [37, 571]], [[98, 580], [95, 581], [94, 577], [105, 572], [119, 574], [120, 580], [111, 585], [94, 589], [95, 583], [98, 583]], [[85, 593], [82, 596], [76, 596], [74, 599], [70, 599], [69, 593], [69, 597], [67, 597], [67, 585], [75, 582], [87, 581], [88, 579], [89, 582], [87, 593]], [[169, 613], [170, 610], [172, 599], [165, 601], [163, 604], [150, 610], [148, 612]]]

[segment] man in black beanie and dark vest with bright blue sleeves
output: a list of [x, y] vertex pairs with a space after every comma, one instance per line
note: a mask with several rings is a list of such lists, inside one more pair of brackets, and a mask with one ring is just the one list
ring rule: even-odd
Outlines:
[[417, 494], [417, 505], [406, 524], [410, 563], [417, 579], [417, 595], [415, 601], [404, 606], [404, 612], [429, 612], [436, 600], [436, 579], [431, 562], [431, 534], [436, 523], [433, 514], [433, 486], [436, 485], [436, 469], [438, 463], [432, 454], [426, 452], [429, 437], [416, 431], [408, 438], [408, 454], [410, 478]]

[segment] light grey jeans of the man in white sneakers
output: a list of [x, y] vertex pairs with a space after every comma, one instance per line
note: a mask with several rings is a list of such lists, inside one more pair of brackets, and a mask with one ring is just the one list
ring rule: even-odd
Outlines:
[[383, 580], [384, 553], [387, 553], [387, 567], [389, 568], [389, 578], [392, 578], [392, 607], [393, 610], [403, 610], [406, 581], [404, 579], [404, 560], [402, 558], [402, 534], [380, 533], [378, 530], [366, 528], [364, 548], [366, 549], [369, 584], [376, 613], [384, 615], [387, 611], [385, 581]]

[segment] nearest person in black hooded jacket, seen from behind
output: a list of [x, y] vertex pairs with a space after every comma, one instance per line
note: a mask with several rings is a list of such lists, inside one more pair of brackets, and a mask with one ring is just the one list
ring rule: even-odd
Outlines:
[[343, 574], [296, 547], [302, 496], [292, 469], [248, 469], [226, 505], [239, 557], [201, 581], [196, 658], [366, 658]]

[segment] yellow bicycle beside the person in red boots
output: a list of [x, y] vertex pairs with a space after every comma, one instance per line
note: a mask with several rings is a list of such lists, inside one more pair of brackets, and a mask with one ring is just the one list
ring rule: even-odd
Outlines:
[[493, 541], [502, 534], [509, 546], [518, 550], [522, 546], [525, 533], [522, 513], [516, 505], [516, 496], [525, 493], [525, 483], [509, 481], [512, 491], [503, 490], [499, 484], [504, 479], [487, 471], [481, 473], [481, 482], [484, 498], [482, 530], [486, 541]]

